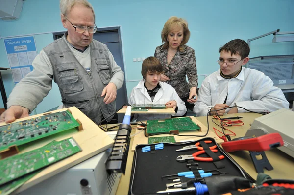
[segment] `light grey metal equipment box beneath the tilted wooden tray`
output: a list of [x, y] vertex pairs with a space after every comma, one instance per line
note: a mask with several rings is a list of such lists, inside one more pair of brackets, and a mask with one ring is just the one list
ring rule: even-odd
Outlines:
[[[110, 131], [116, 133], [117, 131]], [[107, 132], [110, 133], [110, 132]], [[111, 134], [115, 137], [116, 134]], [[115, 195], [122, 173], [107, 173], [110, 150], [19, 192], [18, 195]], [[87, 180], [87, 181], [85, 181]], [[88, 186], [83, 186], [88, 183]], [[120, 194], [120, 193], [117, 193]], [[121, 193], [122, 194], [122, 193]], [[1, 194], [0, 194], [1, 195]]]

